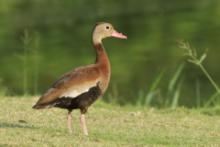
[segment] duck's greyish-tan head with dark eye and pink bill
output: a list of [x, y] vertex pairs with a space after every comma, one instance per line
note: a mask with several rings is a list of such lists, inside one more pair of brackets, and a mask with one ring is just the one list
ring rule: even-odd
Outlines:
[[106, 22], [97, 23], [93, 30], [93, 43], [101, 43], [102, 39], [107, 37], [127, 39], [127, 36], [117, 32], [112, 26], [112, 24]]

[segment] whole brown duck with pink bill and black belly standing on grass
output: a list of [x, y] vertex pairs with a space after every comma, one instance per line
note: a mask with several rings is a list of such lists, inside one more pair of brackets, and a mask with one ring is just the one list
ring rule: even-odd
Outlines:
[[96, 49], [95, 64], [79, 67], [64, 74], [33, 106], [34, 109], [50, 107], [67, 109], [67, 126], [70, 133], [72, 133], [71, 112], [73, 109], [80, 109], [81, 128], [83, 133], [88, 135], [84, 114], [108, 87], [111, 67], [102, 45], [102, 39], [107, 37], [127, 39], [125, 35], [118, 33], [110, 23], [98, 23], [92, 34], [93, 46]]

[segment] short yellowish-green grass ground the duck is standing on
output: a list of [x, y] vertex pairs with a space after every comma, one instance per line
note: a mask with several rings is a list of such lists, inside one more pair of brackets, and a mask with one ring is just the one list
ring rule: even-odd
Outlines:
[[0, 146], [220, 146], [219, 109], [154, 109], [106, 104], [87, 113], [89, 136], [73, 112], [68, 134], [66, 111], [33, 110], [37, 98], [0, 99]]

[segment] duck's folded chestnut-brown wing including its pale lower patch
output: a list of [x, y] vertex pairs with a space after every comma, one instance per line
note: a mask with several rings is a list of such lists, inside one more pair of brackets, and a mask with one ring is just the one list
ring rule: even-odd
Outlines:
[[61, 97], [75, 98], [100, 82], [100, 72], [95, 66], [77, 68], [59, 78], [33, 106], [40, 109], [50, 106]]

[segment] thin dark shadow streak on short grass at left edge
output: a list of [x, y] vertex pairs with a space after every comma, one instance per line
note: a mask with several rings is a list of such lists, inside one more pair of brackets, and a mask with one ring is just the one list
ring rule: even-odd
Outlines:
[[0, 122], [0, 128], [24, 128], [24, 129], [37, 129], [33, 125], [27, 123], [9, 123], [9, 122]]

